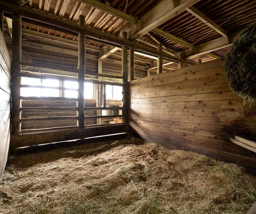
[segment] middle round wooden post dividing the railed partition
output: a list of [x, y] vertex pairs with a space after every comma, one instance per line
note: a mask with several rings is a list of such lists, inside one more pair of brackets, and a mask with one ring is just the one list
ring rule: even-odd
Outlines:
[[[85, 26], [85, 16], [79, 15], [78, 19], [80, 26]], [[84, 72], [85, 72], [85, 35], [78, 34], [78, 101], [76, 106], [78, 127], [85, 127], [85, 114], [84, 114]]]

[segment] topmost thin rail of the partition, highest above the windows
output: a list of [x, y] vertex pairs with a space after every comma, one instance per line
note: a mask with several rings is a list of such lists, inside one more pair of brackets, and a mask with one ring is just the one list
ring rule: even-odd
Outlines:
[[[45, 68], [45, 69], [50, 69], [50, 70], [55, 70], [55, 71], [64, 71], [64, 72], [71, 72], [71, 73], [78, 73], [77, 69], [63, 69], [62, 67], [59, 66], [52, 66], [52, 65], [46, 65], [46, 64], [38, 64], [38, 63], [28, 63], [28, 62], [21, 62], [21, 65], [23, 66], [30, 66], [33, 68]], [[119, 75], [111, 75], [111, 74], [101, 74], [101, 73], [94, 73], [94, 72], [84, 72], [85, 75], [93, 75], [97, 77], [107, 77], [107, 78], [114, 78], [114, 79], [123, 79], [123, 76]]]

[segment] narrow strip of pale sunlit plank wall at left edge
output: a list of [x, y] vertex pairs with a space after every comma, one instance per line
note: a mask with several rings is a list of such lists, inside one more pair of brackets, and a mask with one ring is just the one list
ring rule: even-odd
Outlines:
[[0, 179], [10, 145], [11, 60], [0, 30]]

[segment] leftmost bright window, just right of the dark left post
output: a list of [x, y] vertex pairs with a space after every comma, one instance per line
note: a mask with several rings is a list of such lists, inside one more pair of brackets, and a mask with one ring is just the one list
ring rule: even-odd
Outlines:
[[30, 77], [21, 78], [22, 85], [33, 85], [33, 88], [21, 88], [21, 96], [25, 97], [59, 97], [58, 89], [42, 89], [37, 88], [36, 86], [59, 86], [59, 80], [53, 79], [38, 79]]

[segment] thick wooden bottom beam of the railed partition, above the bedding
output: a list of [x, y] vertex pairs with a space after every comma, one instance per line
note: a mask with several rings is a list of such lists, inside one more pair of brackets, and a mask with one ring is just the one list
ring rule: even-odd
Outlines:
[[50, 131], [47, 133], [11, 135], [11, 149], [33, 146], [43, 143], [61, 142], [67, 140], [84, 139], [99, 135], [127, 133], [128, 124], [113, 124], [109, 126], [90, 127], [83, 129]]

